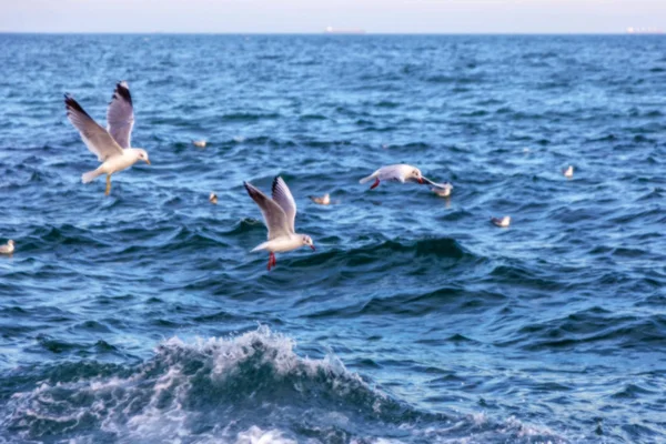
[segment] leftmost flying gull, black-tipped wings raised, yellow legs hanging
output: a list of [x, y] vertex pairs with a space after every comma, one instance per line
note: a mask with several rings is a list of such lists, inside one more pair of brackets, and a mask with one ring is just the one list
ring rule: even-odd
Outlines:
[[111, 192], [111, 174], [132, 167], [142, 160], [150, 164], [148, 153], [141, 148], [130, 148], [132, 128], [134, 127], [134, 110], [132, 97], [127, 82], [119, 82], [113, 91], [113, 98], [107, 111], [108, 127], [100, 127], [83, 108], [69, 94], [64, 95], [67, 117], [81, 139], [102, 164], [93, 171], [81, 175], [83, 183], [89, 183], [97, 176], [107, 174], [105, 195]]

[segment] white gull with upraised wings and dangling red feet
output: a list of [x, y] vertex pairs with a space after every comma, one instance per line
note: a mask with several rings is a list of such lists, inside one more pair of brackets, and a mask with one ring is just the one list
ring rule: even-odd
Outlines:
[[254, 188], [251, 183], [243, 182], [250, 198], [256, 202], [264, 216], [269, 229], [269, 241], [256, 245], [252, 251], [269, 251], [269, 271], [275, 266], [275, 253], [283, 253], [309, 245], [314, 250], [314, 243], [307, 234], [297, 234], [294, 230], [296, 219], [296, 202], [289, 191], [289, 186], [278, 176], [273, 180], [273, 199]]

